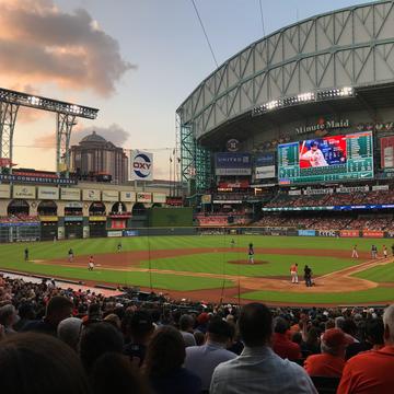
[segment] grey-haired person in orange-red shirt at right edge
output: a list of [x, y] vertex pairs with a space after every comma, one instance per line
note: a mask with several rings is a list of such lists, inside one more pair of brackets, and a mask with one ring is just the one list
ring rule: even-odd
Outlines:
[[389, 394], [394, 392], [394, 304], [383, 315], [384, 347], [352, 357], [345, 364], [338, 394]]

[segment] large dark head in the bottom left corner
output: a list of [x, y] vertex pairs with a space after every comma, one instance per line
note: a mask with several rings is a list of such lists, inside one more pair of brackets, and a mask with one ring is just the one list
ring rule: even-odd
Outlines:
[[89, 394], [74, 351], [43, 334], [18, 334], [1, 341], [1, 392], [7, 394]]

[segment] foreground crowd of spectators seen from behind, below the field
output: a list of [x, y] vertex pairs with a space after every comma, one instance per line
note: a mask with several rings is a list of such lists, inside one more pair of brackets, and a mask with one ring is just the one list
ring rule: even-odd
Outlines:
[[54, 281], [0, 276], [1, 389], [10, 394], [393, 390], [394, 305], [241, 309], [151, 297], [150, 302], [105, 298], [61, 290]]

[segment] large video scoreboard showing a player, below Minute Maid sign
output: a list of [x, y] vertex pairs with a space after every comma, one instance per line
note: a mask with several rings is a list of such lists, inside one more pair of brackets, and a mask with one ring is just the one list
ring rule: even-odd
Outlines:
[[372, 132], [278, 146], [280, 185], [373, 178]]

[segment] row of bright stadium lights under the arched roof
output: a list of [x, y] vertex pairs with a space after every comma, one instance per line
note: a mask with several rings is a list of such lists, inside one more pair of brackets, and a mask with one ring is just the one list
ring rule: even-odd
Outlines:
[[343, 99], [355, 96], [355, 90], [350, 86], [328, 89], [317, 92], [305, 92], [294, 96], [277, 99], [265, 104], [258, 105], [252, 109], [252, 116], [259, 116], [267, 112], [286, 108], [292, 105], [306, 104], [324, 100]]

